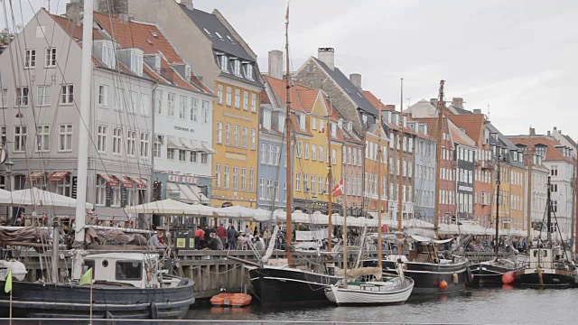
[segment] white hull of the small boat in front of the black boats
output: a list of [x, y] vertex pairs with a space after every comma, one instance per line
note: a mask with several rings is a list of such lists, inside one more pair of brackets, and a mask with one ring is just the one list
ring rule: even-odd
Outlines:
[[359, 289], [359, 286], [344, 288], [340, 285], [331, 285], [325, 288], [325, 296], [330, 302], [338, 306], [382, 306], [400, 304], [407, 301], [412, 290], [414, 281], [406, 278], [406, 285], [401, 285], [391, 291], [374, 292]]

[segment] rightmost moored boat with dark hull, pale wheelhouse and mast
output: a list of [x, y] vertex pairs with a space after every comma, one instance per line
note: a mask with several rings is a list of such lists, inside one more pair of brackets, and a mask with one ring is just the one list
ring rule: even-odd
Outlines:
[[552, 238], [552, 200], [550, 177], [547, 182], [546, 200], [546, 234], [545, 241], [537, 239], [537, 245], [528, 248], [529, 263], [526, 267], [517, 270], [515, 281], [517, 286], [532, 288], [570, 288], [578, 286], [578, 268], [569, 258], [569, 249], [566, 249], [562, 235], [560, 243], [555, 246]]

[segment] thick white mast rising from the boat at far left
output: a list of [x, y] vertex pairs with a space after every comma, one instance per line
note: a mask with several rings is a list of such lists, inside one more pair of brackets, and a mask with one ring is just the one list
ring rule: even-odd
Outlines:
[[[77, 245], [84, 243], [84, 224], [86, 222], [87, 177], [89, 169], [89, 126], [90, 126], [90, 91], [92, 84], [92, 21], [94, 2], [84, 1], [84, 18], [82, 23], [82, 59], [80, 70], [80, 109], [79, 109], [79, 164], [77, 171], [77, 197], [75, 213], [75, 235]], [[52, 261], [57, 263], [57, 261]], [[73, 279], [79, 279], [80, 267], [72, 267]]]

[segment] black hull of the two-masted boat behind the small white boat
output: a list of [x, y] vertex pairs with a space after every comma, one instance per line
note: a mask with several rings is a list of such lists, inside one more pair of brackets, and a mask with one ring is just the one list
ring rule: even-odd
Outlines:
[[[396, 274], [396, 262], [382, 261], [384, 274]], [[378, 260], [366, 260], [363, 266], [377, 266]], [[406, 276], [414, 282], [412, 295], [448, 294], [463, 292], [468, 281], [467, 260], [452, 264], [433, 264], [421, 262], [404, 262]], [[443, 289], [443, 282], [447, 287]]]

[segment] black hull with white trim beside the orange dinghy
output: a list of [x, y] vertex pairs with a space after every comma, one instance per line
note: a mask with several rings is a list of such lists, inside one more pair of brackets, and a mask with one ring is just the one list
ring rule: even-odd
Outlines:
[[329, 304], [324, 289], [341, 279], [339, 276], [276, 266], [250, 268], [249, 276], [257, 302], [262, 304]]

